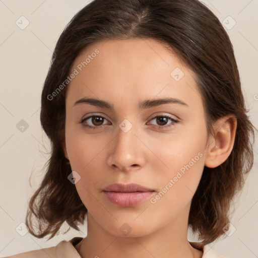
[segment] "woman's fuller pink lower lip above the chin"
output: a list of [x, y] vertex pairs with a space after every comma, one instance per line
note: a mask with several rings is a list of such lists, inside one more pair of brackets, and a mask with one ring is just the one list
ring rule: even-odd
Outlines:
[[106, 198], [117, 206], [135, 206], [142, 201], [150, 198], [154, 191], [136, 191], [136, 192], [115, 192], [103, 191]]

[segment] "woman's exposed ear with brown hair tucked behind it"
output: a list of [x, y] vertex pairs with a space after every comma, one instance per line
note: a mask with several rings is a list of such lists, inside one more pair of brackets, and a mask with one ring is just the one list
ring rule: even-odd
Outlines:
[[234, 115], [224, 116], [213, 126], [205, 158], [205, 166], [214, 168], [222, 164], [230, 155], [235, 141], [237, 120]]

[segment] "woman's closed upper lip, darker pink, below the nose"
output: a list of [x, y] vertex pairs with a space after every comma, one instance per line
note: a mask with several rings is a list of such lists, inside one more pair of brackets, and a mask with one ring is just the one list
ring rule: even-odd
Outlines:
[[106, 186], [103, 189], [103, 191], [136, 192], [136, 191], [154, 191], [154, 190], [136, 183], [128, 183], [128, 184], [114, 183]]

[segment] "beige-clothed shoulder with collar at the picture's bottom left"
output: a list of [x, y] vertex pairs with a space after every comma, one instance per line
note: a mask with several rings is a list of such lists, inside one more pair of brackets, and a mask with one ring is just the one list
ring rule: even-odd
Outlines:
[[74, 237], [70, 241], [61, 241], [56, 246], [23, 252], [3, 258], [80, 258], [81, 256], [74, 247], [83, 238]]

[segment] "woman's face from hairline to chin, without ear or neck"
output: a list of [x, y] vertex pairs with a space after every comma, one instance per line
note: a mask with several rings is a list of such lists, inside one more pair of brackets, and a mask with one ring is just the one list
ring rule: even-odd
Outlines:
[[84, 49], [72, 73], [64, 151], [88, 222], [116, 236], [187, 231], [209, 142], [191, 71], [158, 41], [127, 39]]

